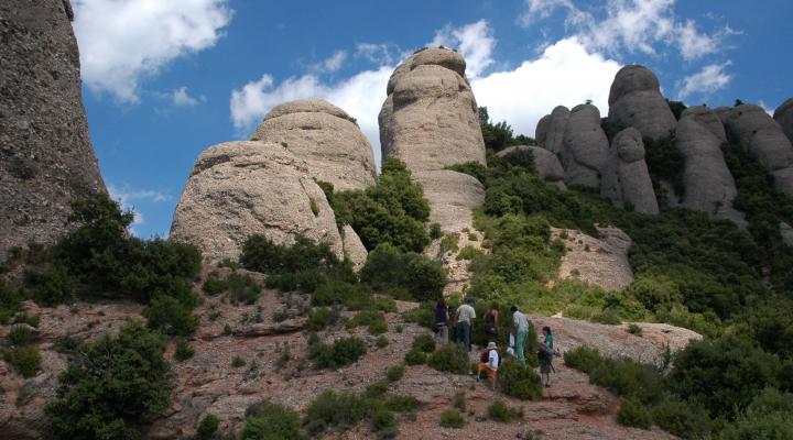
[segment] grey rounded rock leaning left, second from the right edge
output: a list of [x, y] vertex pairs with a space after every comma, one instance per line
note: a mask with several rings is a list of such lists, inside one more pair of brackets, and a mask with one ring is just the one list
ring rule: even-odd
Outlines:
[[740, 105], [727, 116], [727, 129], [774, 177], [776, 189], [793, 196], [793, 146], [780, 124], [760, 106]]

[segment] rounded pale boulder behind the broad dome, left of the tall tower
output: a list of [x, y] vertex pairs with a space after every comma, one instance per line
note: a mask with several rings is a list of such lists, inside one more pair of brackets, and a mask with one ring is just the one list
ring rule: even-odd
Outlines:
[[308, 174], [337, 189], [374, 184], [374, 155], [355, 119], [323, 100], [285, 102], [273, 108], [251, 141], [286, 147], [308, 165]]

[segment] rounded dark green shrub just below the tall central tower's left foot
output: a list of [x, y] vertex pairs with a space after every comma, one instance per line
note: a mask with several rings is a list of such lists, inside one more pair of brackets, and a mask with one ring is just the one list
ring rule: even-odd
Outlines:
[[438, 299], [446, 284], [441, 263], [416, 253], [402, 253], [389, 244], [369, 253], [360, 277], [380, 292], [404, 288], [419, 301]]

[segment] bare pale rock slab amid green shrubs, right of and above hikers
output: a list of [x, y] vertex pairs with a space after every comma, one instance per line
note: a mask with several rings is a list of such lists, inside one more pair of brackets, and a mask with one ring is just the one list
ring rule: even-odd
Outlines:
[[[573, 229], [551, 228], [553, 239], [564, 241], [566, 252], [562, 257], [558, 278], [575, 278], [619, 290], [633, 283], [633, 271], [628, 262], [631, 239], [620, 229], [598, 227], [602, 239], [598, 240]], [[562, 239], [565, 237], [566, 239]]]

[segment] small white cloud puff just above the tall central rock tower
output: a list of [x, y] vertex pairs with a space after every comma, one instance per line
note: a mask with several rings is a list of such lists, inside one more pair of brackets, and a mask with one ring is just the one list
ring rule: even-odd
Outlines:
[[435, 33], [431, 46], [455, 47], [466, 59], [466, 75], [478, 78], [492, 63], [496, 38], [487, 20], [459, 28], [446, 28]]

